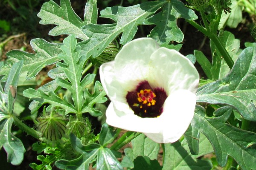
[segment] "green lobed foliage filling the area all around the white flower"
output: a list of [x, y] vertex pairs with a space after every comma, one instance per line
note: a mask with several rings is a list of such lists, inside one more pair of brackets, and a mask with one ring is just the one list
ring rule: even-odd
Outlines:
[[[15, 6], [21, 6], [20, 1], [4, 3], [26, 20]], [[98, 3], [106, 8], [98, 11]], [[37, 141], [32, 149], [39, 163], [29, 164], [34, 170], [54, 166], [63, 170], [90, 166], [97, 170], [255, 169], [256, 133], [248, 127], [256, 122], [256, 43], [246, 42], [241, 49], [240, 40], [224, 31], [225, 26], [235, 28], [241, 22], [243, 10], [253, 14], [255, 4], [250, 0], [188, 0], [187, 6], [180, 0], [113, 3], [88, 0], [81, 19], [70, 0], [60, 0], [60, 5], [45, 2], [37, 14], [39, 23], [54, 25], [49, 35], [66, 35], [63, 43], [36, 38], [30, 42], [34, 53], [12, 50], [0, 62], [0, 149], [7, 153], [7, 161], [13, 165], [23, 161], [23, 131]], [[30, 4], [30, 9], [37, 5]], [[104, 123], [108, 99], [98, 68], [113, 61], [122, 45], [140, 37], [140, 32], [162, 47], [179, 51], [183, 47], [177, 43], [184, 39], [177, 24], [180, 18], [209, 37], [211, 50], [211, 56], [199, 50], [186, 56], [201, 66], [206, 77], [202, 76], [195, 114], [184, 138], [158, 144], [144, 134], [122, 134], [109, 127]], [[12, 29], [7, 20], [0, 23], [5, 33]], [[49, 82], [39, 85], [35, 77], [46, 68]], [[28, 104], [25, 97], [32, 102]], [[98, 116], [103, 116], [99, 134]], [[132, 148], [125, 148], [122, 157], [119, 149], [129, 142]], [[216, 161], [204, 157], [209, 153]]]

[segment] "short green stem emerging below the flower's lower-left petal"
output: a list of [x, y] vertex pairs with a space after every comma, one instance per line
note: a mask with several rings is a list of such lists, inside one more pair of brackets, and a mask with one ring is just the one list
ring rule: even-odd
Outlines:
[[140, 132], [131, 132], [128, 131], [126, 133], [124, 133], [122, 135], [122, 137], [120, 137], [116, 143], [114, 143], [110, 149], [112, 150], [119, 150], [121, 147], [123, 147], [125, 144], [128, 144], [129, 142], [131, 142], [132, 139], [136, 138], [137, 136], [139, 136], [141, 133]]

